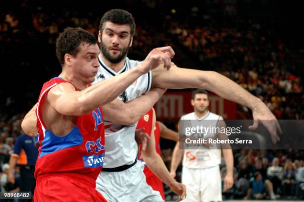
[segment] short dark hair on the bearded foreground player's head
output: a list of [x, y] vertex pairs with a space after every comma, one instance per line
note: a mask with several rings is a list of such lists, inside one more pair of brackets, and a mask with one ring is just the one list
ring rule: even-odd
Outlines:
[[133, 37], [134, 32], [135, 32], [135, 19], [132, 16], [131, 13], [129, 13], [126, 10], [122, 10], [122, 9], [112, 9], [109, 10], [108, 12], [104, 13], [104, 15], [102, 16], [101, 20], [100, 20], [100, 24], [99, 24], [99, 30], [100, 33], [102, 33], [103, 31], [103, 25], [106, 22], [112, 22], [114, 24], [128, 24], [131, 27], [131, 37]]

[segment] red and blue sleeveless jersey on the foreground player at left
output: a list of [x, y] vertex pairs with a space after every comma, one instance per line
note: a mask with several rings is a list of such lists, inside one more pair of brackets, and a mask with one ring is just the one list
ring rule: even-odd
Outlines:
[[49, 80], [44, 83], [39, 96], [36, 109], [39, 155], [34, 176], [37, 179], [43, 174], [78, 173], [95, 181], [103, 166], [105, 152], [101, 107], [78, 116], [75, 127], [65, 136], [53, 134], [42, 120], [42, 105], [48, 91], [63, 82], [68, 81], [60, 77]]

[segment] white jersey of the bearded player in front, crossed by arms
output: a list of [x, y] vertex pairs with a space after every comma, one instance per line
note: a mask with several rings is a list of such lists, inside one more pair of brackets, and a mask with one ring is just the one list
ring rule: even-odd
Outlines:
[[[123, 73], [131, 68], [138, 66], [141, 62], [126, 58], [124, 67], [115, 72], [108, 67], [98, 56], [99, 68], [95, 81], [99, 82]], [[123, 102], [129, 102], [142, 94], [148, 92], [151, 88], [152, 72], [140, 76], [132, 85], [130, 85], [118, 98]], [[126, 164], [132, 164], [137, 156], [138, 146], [135, 141], [135, 130], [137, 123], [132, 126], [122, 126], [105, 120], [105, 161], [104, 168], [115, 168]]]

